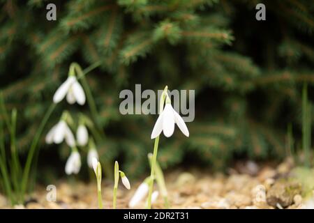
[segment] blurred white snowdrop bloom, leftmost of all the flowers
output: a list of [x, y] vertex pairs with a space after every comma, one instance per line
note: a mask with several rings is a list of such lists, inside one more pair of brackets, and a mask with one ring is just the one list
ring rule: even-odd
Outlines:
[[75, 146], [73, 133], [66, 124], [66, 121], [61, 119], [61, 121], [54, 125], [52, 129], [47, 133], [45, 141], [47, 144], [52, 144], [53, 142], [55, 144], [61, 144], [63, 139], [66, 139], [66, 144], [68, 144], [68, 146]]

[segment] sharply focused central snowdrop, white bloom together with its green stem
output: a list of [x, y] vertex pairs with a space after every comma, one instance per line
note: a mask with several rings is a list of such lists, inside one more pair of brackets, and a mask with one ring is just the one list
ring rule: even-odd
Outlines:
[[[165, 104], [165, 108], [163, 105]], [[188, 128], [186, 123], [184, 123], [183, 118], [173, 109], [171, 105], [171, 100], [167, 94], [167, 86], [163, 90], [160, 97], [160, 107], [159, 116], [154, 125], [153, 132], [151, 132], [151, 139], [155, 139], [154, 152], [151, 160], [151, 176], [149, 181], [149, 197], [147, 200], [147, 208], [151, 208], [151, 195], [153, 194], [154, 177], [156, 172], [156, 160], [159, 144], [159, 135], [161, 132], [165, 134], [165, 137], [171, 137], [174, 132], [174, 123], [177, 123], [181, 132], [183, 132], [186, 137], [189, 136]]]

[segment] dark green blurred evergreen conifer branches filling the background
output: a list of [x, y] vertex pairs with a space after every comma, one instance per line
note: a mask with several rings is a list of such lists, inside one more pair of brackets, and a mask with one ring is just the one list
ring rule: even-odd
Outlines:
[[[47, 21], [47, 3], [57, 21]], [[260, 1], [245, 0], [29, 0], [0, 1], [0, 78], [8, 109], [17, 108], [17, 149], [33, 139], [71, 62], [100, 67], [86, 79], [105, 131], [97, 145], [104, 162], [123, 159], [128, 174], [149, 168], [147, 154], [156, 115], [119, 114], [119, 92], [195, 89], [195, 121], [161, 141], [158, 162], [174, 167], [197, 160], [223, 168], [234, 155], [257, 160], [285, 156], [293, 125], [301, 139], [301, 89], [314, 82], [314, 3], [262, 1], [267, 20], [255, 20]], [[57, 122], [66, 102], [47, 124]], [[77, 107], [73, 111], [79, 115]], [[298, 142], [297, 142], [298, 144]], [[67, 156], [66, 146], [47, 146]], [[299, 147], [301, 147], [299, 140]], [[63, 160], [64, 161], [64, 160]], [[62, 165], [63, 167], [63, 165]]]

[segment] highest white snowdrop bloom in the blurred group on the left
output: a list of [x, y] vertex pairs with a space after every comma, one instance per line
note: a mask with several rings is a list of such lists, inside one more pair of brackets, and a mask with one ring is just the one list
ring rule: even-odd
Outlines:
[[54, 93], [53, 101], [57, 104], [61, 102], [64, 97], [66, 97], [69, 104], [74, 104], [75, 102], [79, 105], [85, 104], [86, 97], [84, 90], [74, 75], [70, 75], [66, 81], [59, 86], [59, 89]]

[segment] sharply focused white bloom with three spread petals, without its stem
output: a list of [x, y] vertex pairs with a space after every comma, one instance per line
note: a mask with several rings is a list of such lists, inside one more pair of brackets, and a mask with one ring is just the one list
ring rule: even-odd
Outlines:
[[161, 131], [163, 131], [165, 137], [171, 137], [174, 132], [174, 123], [177, 123], [179, 129], [186, 137], [189, 136], [186, 123], [184, 123], [183, 118], [173, 109], [170, 99], [167, 96], [165, 109], [163, 109], [163, 112], [161, 112], [154, 125], [153, 132], [151, 132], [151, 139], [158, 137]]

